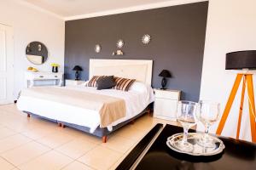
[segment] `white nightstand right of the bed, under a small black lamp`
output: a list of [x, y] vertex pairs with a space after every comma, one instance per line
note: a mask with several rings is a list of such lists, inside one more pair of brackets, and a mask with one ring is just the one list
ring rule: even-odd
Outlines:
[[176, 121], [175, 112], [180, 93], [179, 90], [154, 88], [154, 117]]

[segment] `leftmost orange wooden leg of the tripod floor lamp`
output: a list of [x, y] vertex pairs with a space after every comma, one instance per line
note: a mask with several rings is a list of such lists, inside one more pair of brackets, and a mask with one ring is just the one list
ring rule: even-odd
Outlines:
[[235, 83], [233, 85], [233, 88], [231, 90], [230, 97], [229, 97], [228, 102], [226, 104], [226, 107], [224, 109], [223, 116], [221, 117], [221, 120], [218, 124], [218, 128], [217, 128], [217, 131], [216, 131], [216, 133], [218, 135], [220, 135], [220, 133], [222, 133], [222, 130], [224, 128], [224, 124], [225, 124], [225, 122], [226, 122], [226, 120], [229, 116], [231, 106], [232, 106], [233, 101], [236, 97], [236, 92], [237, 92], [237, 89], [239, 88], [239, 84], [241, 82], [241, 77], [243, 77], [243, 74], [237, 74], [237, 76], [236, 76], [236, 81], [235, 81]]

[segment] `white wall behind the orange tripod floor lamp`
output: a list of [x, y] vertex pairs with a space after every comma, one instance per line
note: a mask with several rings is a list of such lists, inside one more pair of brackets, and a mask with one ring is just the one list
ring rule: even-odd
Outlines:
[[[255, 7], [255, 0], [210, 0], [209, 2], [201, 99], [220, 102], [221, 114], [236, 78], [236, 71], [225, 71], [225, 54], [237, 50], [256, 49]], [[253, 78], [254, 87], [256, 87], [256, 77]], [[226, 136], [236, 137], [240, 97], [241, 89], [238, 91], [234, 107], [224, 127], [223, 134]], [[251, 140], [247, 105], [246, 99], [243, 118], [247, 119], [247, 123], [243, 122], [241, 125], [243, 132], [241, 139]], [[215, 133], [216, 127], [212, 127], [211, 131]]]

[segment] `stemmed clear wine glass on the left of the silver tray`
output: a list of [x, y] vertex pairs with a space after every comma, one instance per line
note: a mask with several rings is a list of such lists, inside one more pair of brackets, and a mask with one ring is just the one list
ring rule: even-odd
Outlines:
[[191, 151], [193, 150], [193, 144], [188, 142], [189, 128], [195, 125], [195, 112], [197, 109], [197, 103], [192, 101], [179, 101], [177, 103], [177, 122], [180, 122], [183, 126], [183, 138], [177, 140], [176, 146], [179, 150]]

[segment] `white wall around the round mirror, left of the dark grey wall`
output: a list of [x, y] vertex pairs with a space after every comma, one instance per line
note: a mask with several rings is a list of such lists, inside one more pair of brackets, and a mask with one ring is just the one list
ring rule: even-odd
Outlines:
[[[24, 71], [34, 66], [39, 71], [51, 71], [50, 63], [64, 65], [65, 22], [53, 15], [27, 7], [17, 1], [0, 0], [0, 23], [13, 26], [15, 40], [15, 97], [24, 87]], [[32, 65], [25, 54], [26, 45], [43, 42], [49, 51], [44, 65]]]

